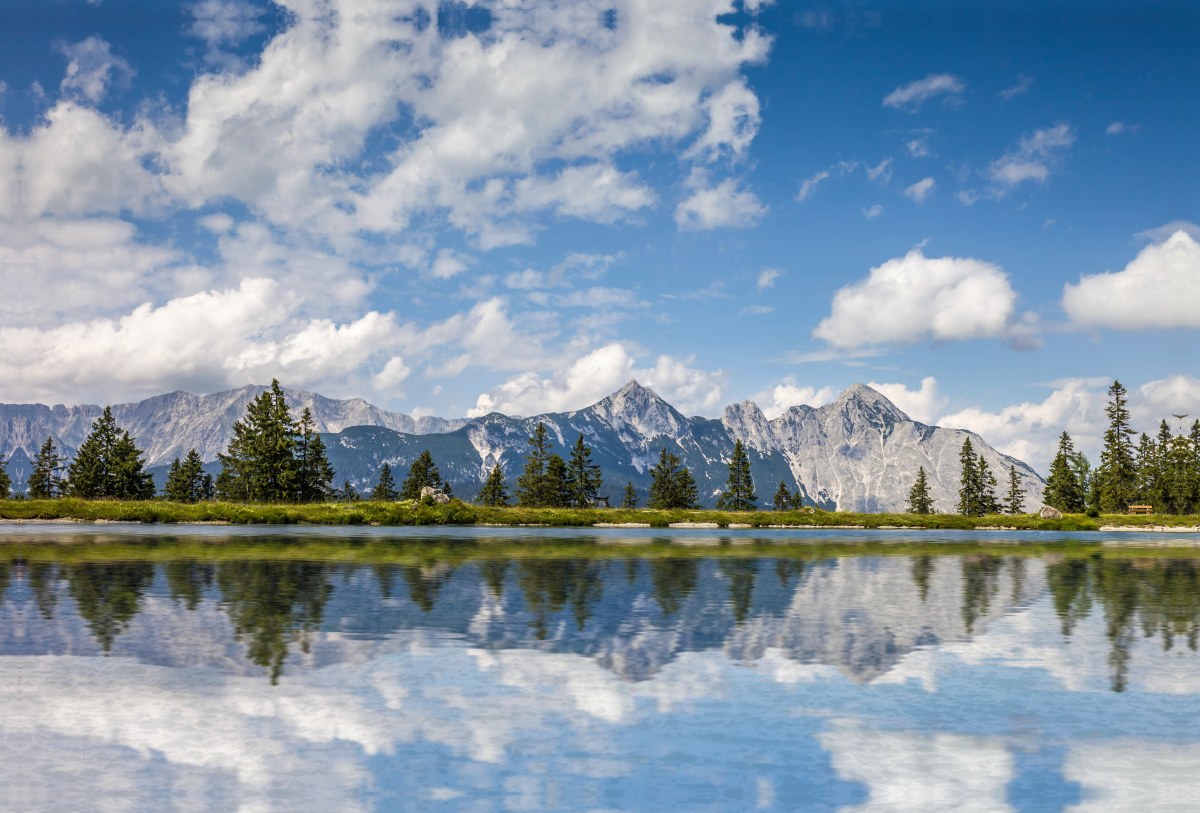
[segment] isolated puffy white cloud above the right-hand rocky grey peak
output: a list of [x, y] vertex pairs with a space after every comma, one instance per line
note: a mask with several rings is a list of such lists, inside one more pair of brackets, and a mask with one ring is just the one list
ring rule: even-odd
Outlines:
[[883, 343], [1032, 341], [1030, 317], [1015, 317], [1016, 291], [998, 266], [971, 258], [928, 258], [919, 249], [871, 269], [840, 289], [812, 336], [853, 350]]

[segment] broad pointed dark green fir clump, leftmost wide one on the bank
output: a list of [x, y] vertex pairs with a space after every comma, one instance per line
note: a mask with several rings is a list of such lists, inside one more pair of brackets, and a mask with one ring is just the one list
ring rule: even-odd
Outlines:
[[112, 408], [106, 406], [67, 468], [67, 490], [90, 500], [150, 500], [154, 476], [144, 465], [133, 438], [116, 426]]

